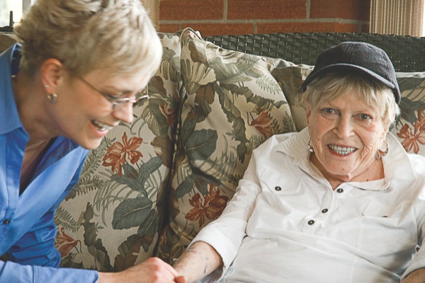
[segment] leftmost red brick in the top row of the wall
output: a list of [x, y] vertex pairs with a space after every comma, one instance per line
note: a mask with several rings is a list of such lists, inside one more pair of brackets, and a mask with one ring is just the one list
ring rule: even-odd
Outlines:
[[159, 21], [220, 20], [224, 8], [224, 0], [162, 0]]

